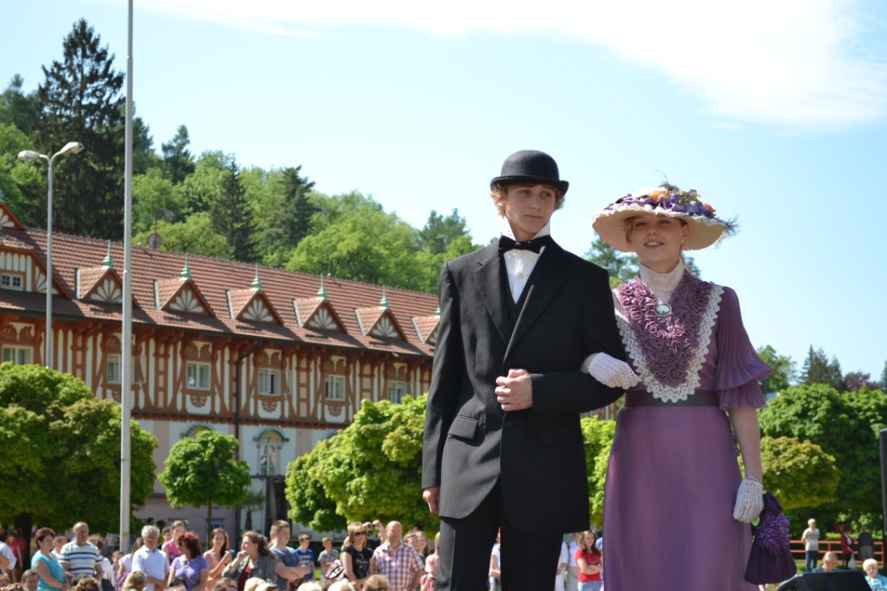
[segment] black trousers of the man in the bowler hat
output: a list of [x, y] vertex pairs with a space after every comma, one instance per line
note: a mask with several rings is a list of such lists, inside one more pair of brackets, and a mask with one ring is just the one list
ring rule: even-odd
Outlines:
[[490, 550], [500, 528], [502, 591], [553, 591], [563, 535], [515, 530], [503, 508], [498, 484], [467, 517], [441, 518], [435, 591], [485, 589]]

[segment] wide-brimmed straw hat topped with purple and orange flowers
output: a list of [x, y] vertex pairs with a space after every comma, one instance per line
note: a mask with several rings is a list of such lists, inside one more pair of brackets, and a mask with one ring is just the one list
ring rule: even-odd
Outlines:
[[704, 203], [695, 190], [681, 191], [668, 183], [618, 198], [591, 220], [591, 227], [614, 249], [632, 252], [626, 239], [626, 220], [640, 214], [685, 220], [690, 225], [685, 250], [704, 249], [736, 233], [736, 221], [716, 217], [715, 208]]

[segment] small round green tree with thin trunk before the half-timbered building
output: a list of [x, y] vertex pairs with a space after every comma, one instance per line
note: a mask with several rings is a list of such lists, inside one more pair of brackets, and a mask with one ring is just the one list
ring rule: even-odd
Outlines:
[[176, 441], [169, 450], [160, 484], [169, 506], [206, 505], [206, 524], [213, 523], [213, 504], [240, 505], [250, 486], [250, 466], [234, 459], [240, 442], [231, 435], [203, 431]]

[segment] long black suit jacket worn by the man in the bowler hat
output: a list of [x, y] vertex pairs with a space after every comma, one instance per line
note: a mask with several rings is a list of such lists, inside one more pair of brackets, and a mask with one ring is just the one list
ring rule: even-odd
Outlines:
[[[462, 518], [501, 480], [518, 530], [582, 531], [589, 486], [581, 413], [622, 395], [580, 371], [594, 352], [624, 359], [608, 274], [552, 242], [512, 331], [505, 273], [496, 243], [441, 271], [422, 486], [441, 487], [441, 516]], [[496, 378], [509, 368], [530, 372], [532, 408], [505, 413], [498, 405]]]

